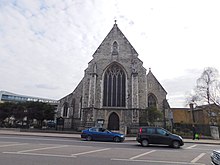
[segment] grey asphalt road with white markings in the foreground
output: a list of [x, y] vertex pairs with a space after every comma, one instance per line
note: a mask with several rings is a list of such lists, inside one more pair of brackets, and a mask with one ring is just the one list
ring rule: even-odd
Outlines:
[[186, 143], [180, 149], [37, 136], [0, 136], [2, 165], [209, 165], [219, 145]]

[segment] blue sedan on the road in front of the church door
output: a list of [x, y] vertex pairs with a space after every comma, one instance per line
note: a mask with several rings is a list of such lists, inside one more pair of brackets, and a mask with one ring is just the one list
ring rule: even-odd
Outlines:
[[81, 133], [81, 138], [87, 141], [98, 140], [98, 141], [123, 142], [125, 140], [125, 135], [116, 132], [111, 132], [105, 128], [92, 127], [83, 130]]

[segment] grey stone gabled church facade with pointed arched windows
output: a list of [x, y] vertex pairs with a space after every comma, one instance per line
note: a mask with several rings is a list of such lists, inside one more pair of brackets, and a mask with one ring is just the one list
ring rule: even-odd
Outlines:
[[65, 128], [82, 130], [101, 125], [124, 132], [137, 128], [140, 115], [151, 105], [166, 110], [167, 120], [166, 95], [115, 23], [93, 54], [81, 82], [59, 100], [57, 115], [64, 118]]

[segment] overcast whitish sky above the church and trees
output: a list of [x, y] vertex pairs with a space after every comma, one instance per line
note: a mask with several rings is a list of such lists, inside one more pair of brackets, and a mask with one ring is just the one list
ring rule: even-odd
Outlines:
[[172, 108], [220, 71], [219, 0], [0, 0], [0, 90], [60, 99], [117, 20]]

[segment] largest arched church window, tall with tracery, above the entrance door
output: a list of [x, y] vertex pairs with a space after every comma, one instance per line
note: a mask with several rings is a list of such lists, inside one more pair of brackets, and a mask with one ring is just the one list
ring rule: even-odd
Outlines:
[[103, 106], [125, 107], [126, 78], [122, 68], [111, 65], [104, 75]]

